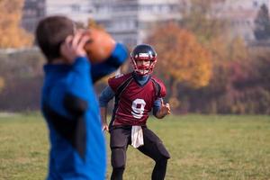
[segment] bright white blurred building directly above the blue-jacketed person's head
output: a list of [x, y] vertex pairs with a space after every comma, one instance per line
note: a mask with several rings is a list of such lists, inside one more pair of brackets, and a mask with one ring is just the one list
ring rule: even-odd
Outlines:
[[92, 0], [45, 0], [46, 16], [63, 14], [80, 23], [87, 23], [93, 14]]

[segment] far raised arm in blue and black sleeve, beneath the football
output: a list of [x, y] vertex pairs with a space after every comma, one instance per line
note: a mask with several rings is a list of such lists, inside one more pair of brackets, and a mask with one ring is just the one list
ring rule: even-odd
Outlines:
[[127, 48], [121, 44], [117, 43], [115, 49], [113, 49], [110, 58], [107, 58], [102, 63], [93, 64], [91, 69], [91, 75], [93, 81], [96, 82], [103, 76], [111, 74], [113, 71], [118, 69], [128, 58]]

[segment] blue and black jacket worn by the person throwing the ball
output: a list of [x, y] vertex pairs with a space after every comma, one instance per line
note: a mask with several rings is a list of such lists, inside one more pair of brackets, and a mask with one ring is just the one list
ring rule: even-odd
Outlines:
[[94, 82], [127, 58], [117, 44], [110, 58], [91, 65], [78, 57], [73, 65], [44, 66], [41, 110], [49, 127], [49, 180], [105, 178], [105, 141]]

